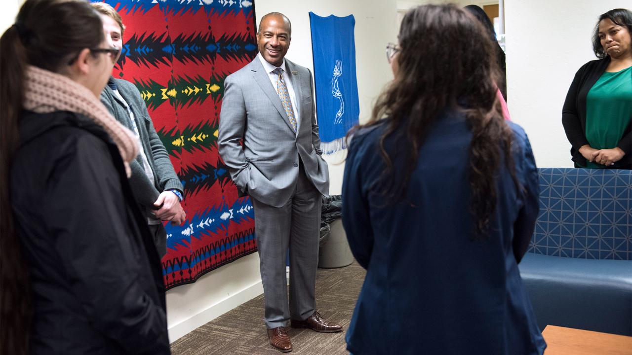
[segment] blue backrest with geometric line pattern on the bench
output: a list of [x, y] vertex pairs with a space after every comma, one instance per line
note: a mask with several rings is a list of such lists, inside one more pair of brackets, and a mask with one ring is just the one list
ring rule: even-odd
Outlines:
[[632, 171], [540, 168], [540, 214], [528, 251], [632, 260]]

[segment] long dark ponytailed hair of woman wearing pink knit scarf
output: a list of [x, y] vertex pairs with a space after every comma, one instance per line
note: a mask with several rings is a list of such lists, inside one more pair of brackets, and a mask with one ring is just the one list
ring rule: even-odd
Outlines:
[[27, 0], [0, 38], [0, 351], [26, 354], [32, 306], [27, 266], [11, 212], [9, 169], [20, 143], [18, 116], [27, 65], [59, 72], [104, 40], [97, 12], [80, 0]]

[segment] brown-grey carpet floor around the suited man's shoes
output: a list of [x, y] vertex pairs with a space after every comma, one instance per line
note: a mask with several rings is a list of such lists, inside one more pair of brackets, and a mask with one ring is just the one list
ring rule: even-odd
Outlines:
[[[343, 325], [339, 333], [317, 333], [291, 329], [294, 355], [348, 354], [344, 335], [364, 282], [365, 270], [354, 262], [343, 268], [319, 268], [316, 275], [316, 304], [326, 320]], [[264, 296], [258, 296], [217, 317], [171, 344], [173, 355], [279, 355], [268, 344], [263, 321]]]

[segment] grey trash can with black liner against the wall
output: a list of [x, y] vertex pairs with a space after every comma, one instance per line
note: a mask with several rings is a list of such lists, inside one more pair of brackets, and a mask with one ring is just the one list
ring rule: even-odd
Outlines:
[[[318, 260], [318, 267], [320, 268], [346, 267], [353, 263], [353, 254], [351, 254], [347, 236], [344, 233], [343, 221], [340, 219], [342, 204], [341, 195], [323, 198]], [[322, 237], [323, 224], [329, 226], [329, 235], [324, 238]]]

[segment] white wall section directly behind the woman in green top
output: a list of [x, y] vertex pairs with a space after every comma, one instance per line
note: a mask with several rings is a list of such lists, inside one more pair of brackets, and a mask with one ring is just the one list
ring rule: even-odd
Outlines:
[[507, 97], [540, 167], [573, 167], [562, 104], [577, 69], [596, 59], [592, 30], [602, 13], [630, 0], [505, 0]]

